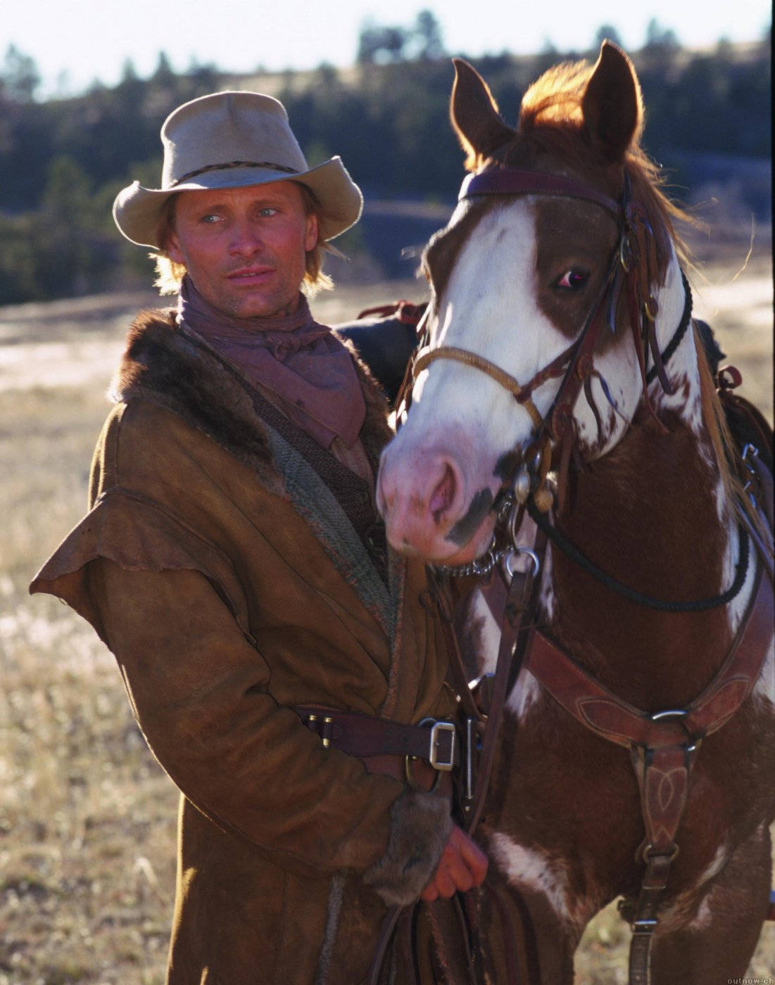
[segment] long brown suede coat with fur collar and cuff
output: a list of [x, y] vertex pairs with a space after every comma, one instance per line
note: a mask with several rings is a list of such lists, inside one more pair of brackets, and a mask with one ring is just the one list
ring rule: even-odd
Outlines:
[[[376, 468], [386, 407], [359, 372]], [[388, 555], [367, 484], [172, 315], [138, 318], [114, 391], [91, 510], [31, 590], [106, 641], [182, 793], [168, 981], [354, 985], [449, 806], [292, 708], [454, 712], [424, 568]]]

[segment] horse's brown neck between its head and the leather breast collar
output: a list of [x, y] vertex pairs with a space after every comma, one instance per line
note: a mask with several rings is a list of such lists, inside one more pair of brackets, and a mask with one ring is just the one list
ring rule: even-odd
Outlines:
[[[669, 432], [641, 408], [623, 439], [573, 477], [557, 525], [622, 583], [689, 601], [729, 587], [737, 537], [704, 420], [691, 333], [670, 376], [675, 394], [654, 395]], [[658, 612], [613, 593], [559, 550], [550, 563], [553, 633], [632, 703], [660, 710], [691, 700], [723, 660], [731, 637], [725, 608]]]

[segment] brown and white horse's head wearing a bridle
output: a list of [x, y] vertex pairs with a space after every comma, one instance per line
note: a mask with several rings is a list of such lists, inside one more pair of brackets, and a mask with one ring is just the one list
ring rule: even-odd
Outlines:
[[676, 210], [640, 149], [627, 56], [604, 42], [592, 69], [545, 73], [516, 129], [475, 70], [455, 67], [470, 174], [424, 253], [427, 346], [378, 490], [391, 545], [447, 563], [486, 550], [521, 469], [535, 492], [571, 454], [617, 443], [650, 406], [649, 337], [670, 389], [659, 353], [685, 307]]

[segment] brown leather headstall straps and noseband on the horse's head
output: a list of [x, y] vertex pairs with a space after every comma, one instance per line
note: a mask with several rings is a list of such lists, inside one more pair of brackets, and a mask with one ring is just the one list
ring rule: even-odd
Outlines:
[[[653, 417], [656, 418], [656, 415], [649, 399], [648, 384], [655, 371], [665, 390], [668, 393], [673, 392], [657, 343], [655, 321], [658, 305], [650, 290], [657, 269], [656, 242], [645, 211], [632, 199], [630, 179], [626, 169], [623, 175], [621, 198], [618, 202], [597, 189], [564, 175], [514, 168], [488, 168], [477, 174], [469, 174], [462, 182], [458, 200], [492, 195], [512, 197], [535, 195], [579, 199], [592, 202], [608, 212], [617, 224], [618, 234], [608, 257], [605, 276], [598, 294], [590, 305], [581, 330], [574, 341], [559, 356], [539, 369], [526, 383], [520, 383], [511, 373], [477, 353], [454, 346], [429, 345], [428, 323], [426, 323], [425, 338], [421, 339], [421, 346], [407, 374], [403, 400], [408, 407], [411, 386], [418, 374], [432, 362], [441, 359], [460, 362], [495, 380], [512, 394], [520, 406], [525, 408], [532, 422], [532, 441], [524, 453], [524, 458], [530, 470], [530, 492], [537, 493], [535, 501], [541, 511], [546, 512], [553, 499], [546, 485], [551, 464], [551, 447], [555, 444], [560, 448], [558, 495], [561, 503], [570, 454], [576, 439], [573, 409], [582, 388], [595, 415], [600, 438], [602, 422], [592, 394], [593, 377], [599, 378], [603, 393], [615, 407], [604, 379], [595, 369], [593, 354], [603, 328], [607, 326], [611, 332], [616, 329], [616, 312], [624, 288], [626, 288], [631, 331], [640, 368], [643, 397], [646, 408]], [[687, 296], [690, 296], [685, 278], [684, 288]], [[690, 314], [690, 303], [688, 312]], [[682, 331], [685, 331], [688, 320], [688, 314], [681, 319]], [[649, 373], [646, 370], [647, 346], [651, 350], [654, 363]], [[532, 401], [532, 394], [548, 380], [560, 377], [561, 382], [551, 407], [546, 415], [541, 416]]]

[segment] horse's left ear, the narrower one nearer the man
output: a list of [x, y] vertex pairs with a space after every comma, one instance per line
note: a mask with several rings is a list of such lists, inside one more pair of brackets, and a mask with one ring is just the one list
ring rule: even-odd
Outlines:
[[450, 99], [450, 119], [472, 169], [477, 159], [488, 158], [512, 140], [515, 131], [504, 123], [487, 84], [462, 58], [453, 58], [455, 83]]

